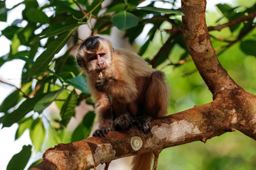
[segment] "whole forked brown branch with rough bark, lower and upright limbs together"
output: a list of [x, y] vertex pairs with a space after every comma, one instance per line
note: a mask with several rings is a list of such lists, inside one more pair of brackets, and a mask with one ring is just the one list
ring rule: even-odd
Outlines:
[[[88, 169], [113, 159], [159, 151], [225, 132], [240, 130], [256, 140], [256, 96], [244, 91], [223, 69], [210, 42], [206, 26], [206, 0], [182, 1], [183, 35], [198, 72], [213, 101], [187, 111], [152, 120], [144, 134], [137, 128], [110, 132], [106, 137], [89, 137], [60, 144], [43, 155], [35, 169]], [[193, 15], [191, 15], [193, 13]]]

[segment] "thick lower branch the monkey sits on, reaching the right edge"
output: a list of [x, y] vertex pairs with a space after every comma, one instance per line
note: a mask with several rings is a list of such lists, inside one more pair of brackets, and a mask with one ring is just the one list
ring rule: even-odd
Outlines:
[[[151, 132], [137, 128], [110, 132], [106, 137], [89, 137], [79, 142], [48, 149], [36, 169], [88, 169], [134, 154], [162, 150], [222, 135], [235, 129], [256, 140], [256, 96], [242, 89], [228, 90], [222, 98], [203, 106], [153, 120]], [[142, 147], [131, 145], [139, 137]], [[139, 140], [138, 140], [139, 141]], [[137, 141], [137, 142], [138, 142]], [[136, 142], [135, 142], [136, 143]], [[135, 150], [133, 148], [137, 148]]]

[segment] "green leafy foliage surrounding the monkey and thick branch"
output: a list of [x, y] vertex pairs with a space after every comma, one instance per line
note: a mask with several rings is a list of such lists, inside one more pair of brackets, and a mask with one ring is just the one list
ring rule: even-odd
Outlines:
[[[41, 6], [31, 0], [17, 4], [13, 8], [25, 6], [23, 18], [1, 30], [1, 36], [11, 41], [11, 50], [0, 57], [0, 66], [11, 60], [26, 62], [21, 87], [1, 103], [1, 128], [18, 123], [16, 139], [29, 130], [33, 142], [33, 147], [24, 146], [14, 155], [9, 167], [15, 166], [14, 160], [21, 154], [29, 156], [31, 152], [44, 152], [60, 142], [74, 142], [89, 136], [94, 112], [85, 115], [73, 134], [67, 126], [76, 106], [85, 102], [93, 106], [85, 74], [80, 72], [70, 53], [80, 44], [78, 27], [88, 24], [92, 18], [96, 19], [92, 34], [110, 34], [116, 26], [124, 30], [124, 37], [133, 45], [144, 28], [151, 26], [144, 43], [137, 45], [137, 51], [152, 67], [165, 72], [171, 88], [170, 114], [212, 101], [212, 94], [188, 55], [181, 32], [177, 31], [181, 29], [182, 13], [175, 0], [160, 1], [169, 9], [156, 8], [159, 1], [148, 1], [143, 8], [137, 8], [139, 1], [114, 0], [103, 10], [102, 0], [78, 0], [78, 4], [72, 0], [46, 2]], [[227, 23], [256, 11], [255, 0], [233, 3], [232, 6], [218, 4], [217, 11], [208, 11], [208, 26]], [[8, 11], [13, 8], [6, 8], [5, 1], [0, 1], [0, 21], [6, 22]], [[50, 13], [45, 14], [46, 11]], [[246, 91], [256, 94], [256, 30], [253, 28], [255, 19], [252, 18], [220, 31], [210, 31], [210, 35], [220, 63], [230, 76]], [[164, 46], [166, 48], [162, 49]], [[57, 57], [61, 49], [65, 52]], [[59, 112], [47, 116], [46, 108], [52, 103]], [[206, 144], [193, 142], [171, 147], [160, 154], [158, 169], [255, 169], [255, 145], [249, 137], [233, 132], [214, 137]], [[22, 167], [26, 162], [28, 157]]]

